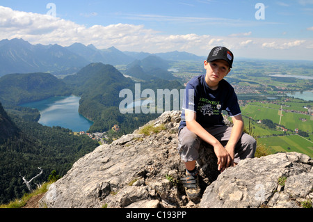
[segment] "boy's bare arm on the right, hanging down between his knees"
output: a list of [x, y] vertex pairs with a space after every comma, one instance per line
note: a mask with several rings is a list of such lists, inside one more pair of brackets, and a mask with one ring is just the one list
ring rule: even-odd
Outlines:
[[236, 146], [236, 143], [239, 141], [242, 133], [243, 133], [243, 120], [241, 114], [238, 116], [232, 117], [232, 122], [234, 126], [232, 127], [232, 132], [230, 134], [230, 140], [227, 142], [225, 148], [227, 152], [230, 154], [230, 157], [232, 158], [231, 166], [234, 165], [234, 149]]

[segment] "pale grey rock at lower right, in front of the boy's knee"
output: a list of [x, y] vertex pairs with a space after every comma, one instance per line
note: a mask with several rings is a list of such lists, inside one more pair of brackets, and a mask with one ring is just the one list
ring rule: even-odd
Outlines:
[[297, 152], [244, 159], [207, 187], [200, 207], [312, 205], [313, 161]]

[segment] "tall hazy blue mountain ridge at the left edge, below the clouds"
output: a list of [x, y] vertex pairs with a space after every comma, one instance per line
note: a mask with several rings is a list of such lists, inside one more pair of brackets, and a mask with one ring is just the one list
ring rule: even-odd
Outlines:
[[54, 72], [87, 65], [85, 58], [59, 45], [31, 45], [22, 39], [1, 40], [0, 76], [9, 73]]

